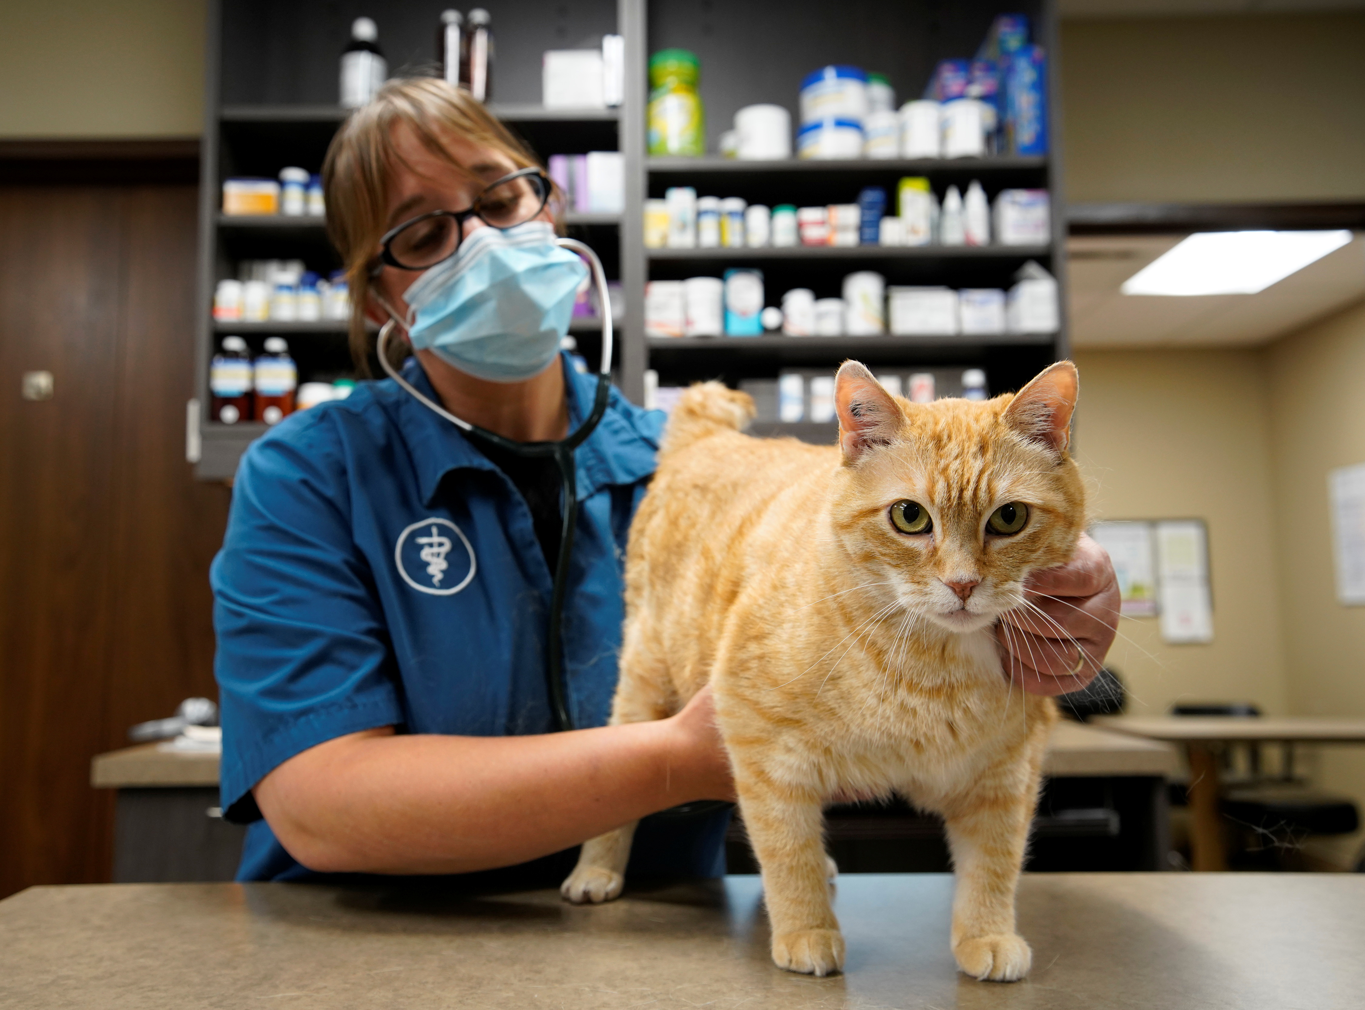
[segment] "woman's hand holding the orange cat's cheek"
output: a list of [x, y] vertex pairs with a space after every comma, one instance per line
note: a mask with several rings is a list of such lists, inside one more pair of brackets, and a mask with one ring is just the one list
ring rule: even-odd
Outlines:
[[995, 628], [1010, 681], [1031, 695], [1080, 691], [1099, 673], [1118, 631], [1118, 579], [1108, 554], [1081, 534], [1076, 557], [1031, 575], [1024, 599]]

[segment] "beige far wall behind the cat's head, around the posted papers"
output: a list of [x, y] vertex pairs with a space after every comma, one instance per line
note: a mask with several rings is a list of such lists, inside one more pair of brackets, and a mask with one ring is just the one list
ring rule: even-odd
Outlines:
[[[1208, 523], [1213, 641], [1166, 646], [1155, 618], [1123, 618], [1110, 662], [1136, 714], [1177, 699], [1250, 699], [1286, 711], [1283, 637], [1256, 351], [1084, 351], [1077, 459], [1097, 519]], [[1260, 519], [1257, 519], [1260, 517]]]

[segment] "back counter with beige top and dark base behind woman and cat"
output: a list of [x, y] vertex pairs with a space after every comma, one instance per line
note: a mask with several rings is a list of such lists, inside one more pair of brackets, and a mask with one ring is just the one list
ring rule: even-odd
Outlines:
[[[1178, 764], [1168, 744], [1063, 721], [1052, 733], [1043, 770], [1059, 789], [1087, 781], [1097, 785], [1100, 779], [1115, 783], [1108, 793], [1132, 843], [1125, 846], [1123, 857], [1092, 863], [1092, 868], [1164, 869], [1170, 848], [1164, 783]], [[218, 755], [162, 751], [157, 744], [128, 747], [97, 756], [90, 766], [90, 783], [119, 790], [115, 883], [232, 879], [243, 828], [209, 816], [218, 805]], [[841, 818], [838, 811], [831, 812], [831, 846], [846, 869], [947, 865], [936, 820], [867, 813]], [[1039, 845], [1033, 849], [1044, 868], [1076, 865], [1067, 846], [1095, 850], [1084, 838], [1048, 841], [1048, 831], [1065, 834], [1077, 826], [1054, 824], [1046, 816], [1044, 811]], [[886, 853], [893, 849], [894, 856], [887, 860]], [[752, 868], [743, 831], [736, 833], [729, 853], [732, 868]]]

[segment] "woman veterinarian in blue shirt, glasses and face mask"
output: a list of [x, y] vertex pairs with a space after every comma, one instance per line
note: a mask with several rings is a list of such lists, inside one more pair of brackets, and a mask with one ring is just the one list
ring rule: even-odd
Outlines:
[[[586, 269], [554, 243], [535, 168], [482, 104], [434, 79], [389, 82], [332, 142], [352, 349], [369, 319], [385, 351], [412, 355], [392, 364], [399, 379], [289, 416], [238, 470], [212, 580], [222, 809], [250, 824], [242, 880], [550, 886], [586, 838], [733, 798], [708, 691], [659, 722], [603, 725], [627, 534], [663, 415], [614, 389], [599, 403], [597, 377], [558, 354], [545, 321], [566, 326]], [[561, 464], [577, 504], [550, 663]], [[1001, 636], [1009, 676], [1077, 689], [1114, 637], [1108, 558], [1084, 539], [1033, 588], [1066, 598], [1039, 603], [1085, 655], [1020, 628]], [[726, 822], [647, 819], [631, 876], [723, 872]]]

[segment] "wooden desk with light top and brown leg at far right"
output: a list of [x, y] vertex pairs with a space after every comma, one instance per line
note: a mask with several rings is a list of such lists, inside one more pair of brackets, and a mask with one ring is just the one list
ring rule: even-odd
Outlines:
[[1213, 744], [1365, 744], [1365, 719], [1107, 715], [1095, 722], [1119, 733], [1185, 745], [1190, 763], [1190, 864], [1207, 871], [1227, 868]]

